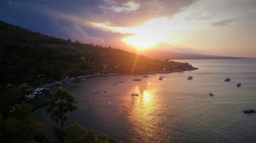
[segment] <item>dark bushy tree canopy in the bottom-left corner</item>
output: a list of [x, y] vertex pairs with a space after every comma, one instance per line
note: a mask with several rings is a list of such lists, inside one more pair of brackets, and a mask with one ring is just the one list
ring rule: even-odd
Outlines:
[[46, 125], [34, 120], [31, 105], [15, 104], [8, 119], [1, 120], [0, 142], [34, 142], [45, 130]]

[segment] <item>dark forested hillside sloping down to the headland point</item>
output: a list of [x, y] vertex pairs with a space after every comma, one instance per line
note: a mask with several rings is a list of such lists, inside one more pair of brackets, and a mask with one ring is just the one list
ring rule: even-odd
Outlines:
[[149, 59], [112, 47], [53, 38], [4, 21], [0, 21], [0, 66], [0, 83], [60, 79], [61, 75], [193, 68], [188, 63]]

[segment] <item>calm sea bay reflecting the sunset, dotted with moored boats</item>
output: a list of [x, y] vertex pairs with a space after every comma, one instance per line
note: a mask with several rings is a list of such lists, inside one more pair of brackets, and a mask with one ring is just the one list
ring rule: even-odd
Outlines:
[[[242, 112], [256, 108], [256, 59], [176, 61], [198, 70], [70, 83], [79, 109], [68, 113], [64, 128], [77, 122], [122, 142], [256, 142], [256, 113]], [[230, 82], [224, 81], [227, 77]], [[34, 115], [48, 123], [46, 137], [56, 142], [46, 108]]]

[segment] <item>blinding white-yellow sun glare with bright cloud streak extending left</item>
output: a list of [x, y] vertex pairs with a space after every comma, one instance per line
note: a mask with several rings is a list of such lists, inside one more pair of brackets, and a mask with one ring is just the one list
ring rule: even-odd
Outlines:
[[136, 27], [114, 27], [108, 23], [91, 23], [94, 27], [100, 27], [104, 30], [118, 32], [129, 35], [121, 39], [122, 42], [139, 49], [151, 48], [158, 43], [167, 43], [172, 41], [175, 27], [173, 20], [161, 17], [153, 18]]

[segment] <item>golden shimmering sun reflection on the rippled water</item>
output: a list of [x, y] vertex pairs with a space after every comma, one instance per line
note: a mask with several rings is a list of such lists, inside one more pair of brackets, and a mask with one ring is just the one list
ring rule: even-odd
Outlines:
[[[158, 98], [159, 88], [147, 82], [146, 85], [134, 85], [129, 89], [129, 93], [138, 93], [137, 96], [126, 96], [126, 102], [129, 111], [127, 113], [127, 120], [130, 124], [130, 132], [136, 136], [137, 139], [152, 138], [155, 133], [162, 130], [159, 125], [161, 124], [161, 118], [159, 118], [159, 112], [164, 111], [161, 109], [161, 102]], [[124, 101], [125, 102], [125, 101]], [[161, 113], [160, 113], [161, 114]], [[135, 139], [136, 140], [136, 139]], [[147, 142], [147, 141], [145, 141]]]

